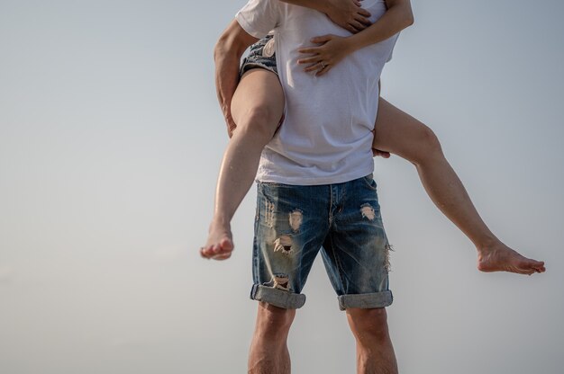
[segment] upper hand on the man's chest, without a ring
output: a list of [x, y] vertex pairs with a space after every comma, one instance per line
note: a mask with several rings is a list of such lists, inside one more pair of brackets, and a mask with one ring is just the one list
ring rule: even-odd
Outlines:
[[370, 13], [360, 7], [359, 0], [323, 0], [329, 19], [343, 29], [357, 33], [370, 25]]

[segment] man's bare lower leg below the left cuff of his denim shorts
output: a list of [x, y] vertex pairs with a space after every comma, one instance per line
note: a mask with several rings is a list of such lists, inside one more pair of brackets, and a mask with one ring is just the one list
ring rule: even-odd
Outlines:
[[249, 374], [289, 374], [290, 354], [287, 336], [296, 309], [283, 309], [259, 303], [255, 333], [249, 353]]

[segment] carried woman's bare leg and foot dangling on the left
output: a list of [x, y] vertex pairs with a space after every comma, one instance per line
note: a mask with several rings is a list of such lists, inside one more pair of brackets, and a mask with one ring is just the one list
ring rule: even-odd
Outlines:
[[273, 137], [284, 111], [284, 93], [276, 74], [261, 68], [248, 71], [232, 99], [237, 124], [229, 140], [215, 190], [214, 218], [202, 256], [224, 260], [233, 249], [231, 220], [250, 189], [260, 153]]

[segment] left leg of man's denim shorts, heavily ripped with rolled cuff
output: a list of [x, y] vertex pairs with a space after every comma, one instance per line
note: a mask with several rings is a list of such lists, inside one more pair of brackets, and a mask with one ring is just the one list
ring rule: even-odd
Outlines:
[[259, 183], [251, 298], [296, 308], [329, 227], [330, 187]]

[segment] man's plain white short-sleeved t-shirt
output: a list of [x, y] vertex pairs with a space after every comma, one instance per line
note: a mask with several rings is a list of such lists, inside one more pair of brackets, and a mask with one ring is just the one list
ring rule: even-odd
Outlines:
[[[383, 0], [364, 0], [375, 22]], [[316, 77], [297, 65], [297, 49], [315, 36], [350, 36], [317, 11], [278, 0], [250, 0], [236, 20], [250, 35], [274, 30], [277, 71], [286, 96], [286, 118], [260, 157], [257, 180], [297, 185], [351, 181], [372, 173], [372, 129], [378, 111], [378, 80], [397, 35], [359, 49]]]

